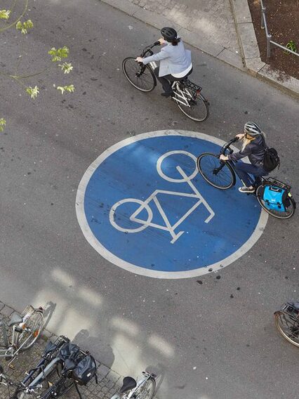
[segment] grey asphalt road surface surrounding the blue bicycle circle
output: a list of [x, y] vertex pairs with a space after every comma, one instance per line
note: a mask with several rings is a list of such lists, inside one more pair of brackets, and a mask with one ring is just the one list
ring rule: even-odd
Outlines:
[[[298, 102], [193, 48], [192, 79], [211, 103], [209, 119], [196, 124], [159, 88], [143, 95], [121, 72], [121, 60], [157, 30], [95, 0], [30, 8], [36, 28], [23, 70], [42, 69], [46, 51], [65, 45], [74, 71], [30, 81], [41, 87], [36, 100], [1, 77], [1, 301], [18, 309], [48, 303], [49, 329], [76, 337], [120, 374], [156, 369], [159, 398], [295, 398], [298, 349], [277, 334], [272, 314], [298, 299], [297, 215], [269, 218], [254, 247], [221, 273], [159, 280], [103, 259], [81, 233], [75, 198], [88, 166], [124, 138], [184, 129], [227, 140], [248, 119], [279, 151], [274, 176], [298, 198]], [[13, 31], [2, 38], [1, 71], [20, 51]], [[75, 93], [56, 93], [63, 81]]]

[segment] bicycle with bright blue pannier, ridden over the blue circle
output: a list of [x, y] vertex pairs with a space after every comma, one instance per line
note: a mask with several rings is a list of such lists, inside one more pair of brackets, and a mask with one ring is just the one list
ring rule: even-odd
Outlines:
[[[237, 140], [238, 138], [233, 138], [225, 143], [219, 154], [204, 152], [197, 158], [197, 168], [201, 176], [206, 182], [220, 190], [232, 188], [236, 183], [236, 174], [239, 177], [233, 161], [221, 161], [219, 159], [220, 155], [234, 152], [230, 146]], [[242, 181], [242, 183], [244, 182]], [[255, 195], [260, 206], [268, 214], [279, 219], [287, 219], [293, 216], [296, 204], [291, 195], [290, 185], [271, 177], [260, 178], [260, 183], [256, 183], [252, 179], [252, 185], [255, 187], [255, 192], [252, 194]], [[248, 193], [248, 195], [251, 195], [251, 193]]]

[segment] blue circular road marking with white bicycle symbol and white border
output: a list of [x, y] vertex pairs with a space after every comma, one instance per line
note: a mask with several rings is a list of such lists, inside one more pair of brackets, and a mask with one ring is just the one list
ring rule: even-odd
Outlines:
[[254, 196], [217, 190], [197, 172], [202, 152], [223, 141], [155, 131], [106, 150], [84, 174], [77, 217], [90, 244], [112, 263], [159, 278], [218, 270], [243, 255], [267, 223]]

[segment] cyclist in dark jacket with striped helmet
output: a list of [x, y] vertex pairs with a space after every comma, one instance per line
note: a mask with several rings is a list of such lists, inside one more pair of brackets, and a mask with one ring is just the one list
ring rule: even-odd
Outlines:
[[[244, 183], [243, 187], [239, 188], [240, 192], [254, 192], [255, 188], [253, 184], [258, 185], [260, 183], [260, 176], [266, 176], [267, 171], [263, 168], [264, 155], [265, 155], [265, 142], [263, 132], [260, 130], [260, 126], [253, 122], [247, 122], [244, 125], [244, 133], [237, 134], [239, 139], [244, 140], [241, 151], [234, 152], [230, 155], [220, 155], [222, 161], [231, 159], [237, 164], [234, 165], [236, 171]], [[248, 157], [250, 164], [239, 162], [240, 159]], [[255, 177], [255, 182], [249, 176], [251, 174]]]

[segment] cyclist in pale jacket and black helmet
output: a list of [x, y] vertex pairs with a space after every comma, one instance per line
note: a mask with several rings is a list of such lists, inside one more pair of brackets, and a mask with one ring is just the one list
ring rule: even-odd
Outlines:
[[184, 44], [177, 32], [172, 27], [161, 29], [160, 44], [166, 44], [157, 54], [150, 57], [137, 57], [138, 63], [148, 64], [152, 61], [160, 61], [160, 66], [155, 68], [154, 74], [160, 81], [164, 93], [161, 96], [173, 96], [171, 82], [182, 80], [192, 72], [191, 51], [185, 50]]

